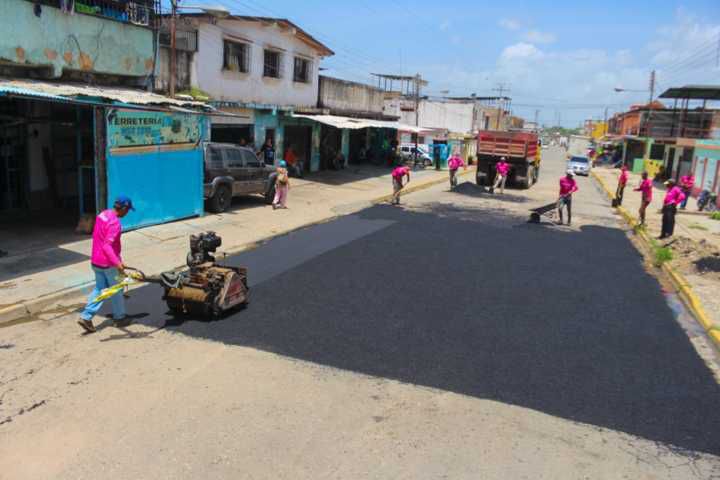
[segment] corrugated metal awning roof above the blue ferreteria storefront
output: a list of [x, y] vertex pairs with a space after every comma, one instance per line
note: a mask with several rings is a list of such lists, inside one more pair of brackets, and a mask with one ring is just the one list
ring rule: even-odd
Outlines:
[[70, 101], [84, 99], [105, 99], [135, 105], [175, 105], [184, 107], [205, 107], [201, 102], [178, 100], [144, 90], [130, 88], [90, 87], [71, 83], [50, 83], [35, 80], [0, 78], [0, 95], [42, 98], [46, 100]]

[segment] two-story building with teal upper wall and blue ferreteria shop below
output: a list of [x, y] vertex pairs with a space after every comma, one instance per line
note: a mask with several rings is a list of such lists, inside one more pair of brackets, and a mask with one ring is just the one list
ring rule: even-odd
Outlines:
[[0, 220], [68, 229], [118, 194], [128, 228], [201, 215], [207, 117], [149, 91], [157, 2], [2, 4]]

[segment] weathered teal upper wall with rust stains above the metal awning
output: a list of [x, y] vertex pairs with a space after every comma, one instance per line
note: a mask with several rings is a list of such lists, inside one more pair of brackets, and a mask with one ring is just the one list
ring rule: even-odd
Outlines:
[[48, 65], [55, 77], [63, 69], [138, 77], [153, 73], [154, 39], [149, 28], [94, 15], [70, 15], [46, 5], [37, 17], [34, 4], [26, 0], [2, 4], [0, 59]]

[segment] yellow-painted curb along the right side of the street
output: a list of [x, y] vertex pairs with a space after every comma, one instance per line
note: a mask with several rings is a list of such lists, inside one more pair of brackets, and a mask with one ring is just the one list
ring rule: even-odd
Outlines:
[[[591, 172], [591, 175], [605, 191], [608, 198], [610, 198], [611, 200], [614, 199], [615, 194], [610, 191], [610, 189], [605, 184], [605, 181], [600, 178], [595, 172]], [[615, 209], [620, 213], [620, 215], [625, 219], [625, 221], [628, 223], [628, 225], [630, 225], [630, 227], [634, 229], [638, 225], [635, 217], [633, 217], [624, 207], [620, 206], [616, 207]], [[635, 234], [642, 239], [646, 247], [648, 247], [649, 249], [652, 248], [653, 245], [647, 232], [645, 232], [644, 230], [635, 230]], [[720, 350], [720, 327], [715, 326], [715, 324], [708, 317], [707, 313], [705, 313], [702, 302], [700, 302], [700, 299], [697, 297], [695, 292], [693, 292], [692, 287], [690, 286], [688, 281], [680, 272], [675, 270], [674, 267], [668, 265], [667, 263], [662, 264], [662, 271], [665, 272], [672, 284], [675, 286], [678, 293], [680, 294], [680, 299], [688, 308], [688, 310], [690, 310], [690, 312], [693, 314], [695, 320], [697, 320], [700, 326], [703, 327], [703, 330], [705, 330], [705, 332], [708, 334], [715, 346]]]

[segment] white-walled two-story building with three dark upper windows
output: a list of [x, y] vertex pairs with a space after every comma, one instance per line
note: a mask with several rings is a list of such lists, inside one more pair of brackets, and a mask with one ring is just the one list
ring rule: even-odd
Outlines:
[[[233, 116], [212, 118], [212, 140], [259, 149], [288, 145], [311, 170], [320, 168], [320, 127], [294, 112], [317, 113], [319, 70], [332, 50], [282, 18], [181, 14], [177, 18], [176, 82], [179, 93], [206, 96]], [[169, 84], [169, 18], [161, 29], [160, 75]]]

